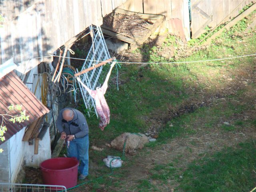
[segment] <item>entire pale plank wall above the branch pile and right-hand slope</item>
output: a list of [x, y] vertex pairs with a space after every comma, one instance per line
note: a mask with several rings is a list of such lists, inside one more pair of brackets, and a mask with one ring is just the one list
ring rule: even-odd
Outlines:
[[[204, 33], [207, 25], [215, 27], [227, 16], [237, 16], [251, 2], [255, 0], [191, 0], [192, 38], [198, 38]], [[170, 32], [182, 30], [187, 40], [190, 37], [189, 0], [128, 0], [119, 8], [164, 15], [165, 27]]]

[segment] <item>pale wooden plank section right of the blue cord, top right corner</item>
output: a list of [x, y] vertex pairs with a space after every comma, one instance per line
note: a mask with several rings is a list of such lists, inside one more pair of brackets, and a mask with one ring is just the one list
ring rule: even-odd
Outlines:
[[[225, 18], [230, 19], [239, 14], [244, 6], [252, 0], [191, 0], [192, 38], [198, 38], [205, 32], [205, 27], [214, 28]], [[254, 0], [255, 2], [255, 0]]]

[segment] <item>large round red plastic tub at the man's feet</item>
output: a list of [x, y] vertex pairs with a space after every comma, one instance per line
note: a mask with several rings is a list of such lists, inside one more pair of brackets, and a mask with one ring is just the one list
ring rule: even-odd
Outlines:
[[62, 185], [71, 188], [77, 184], [79, 162], [76, 158], [59, 157], [40, 164], [43, 182], [46, 185]]

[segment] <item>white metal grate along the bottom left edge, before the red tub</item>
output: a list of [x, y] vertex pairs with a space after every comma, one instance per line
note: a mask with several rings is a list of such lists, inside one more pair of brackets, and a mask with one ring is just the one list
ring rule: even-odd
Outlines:
[[66, 192], [65, 186], [0, 183], [0, 192]]

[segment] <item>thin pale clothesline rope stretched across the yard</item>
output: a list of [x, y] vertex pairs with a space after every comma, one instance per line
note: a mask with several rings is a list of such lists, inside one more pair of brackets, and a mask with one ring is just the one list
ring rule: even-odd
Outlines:
[[[256, 56], [256, 54], [234, 56], [234, 57], [227, 57], [227, 58], [218, 58], [218, 59], [196, 60], [196, 61], [177, 61], [177, 62], [118, 62], [118, 63], [119, 64], [183, 64], [183, 63], [198, 63], [198, 62], [210, 62], [210, 61], [229, 60], [229, 59], [249, 57], [249, 56]], [[50, 56], [33, 57], [33, 58], [29, 58], [29, 60], [30, 59], [37, 59], [37, 58], [45, 58], [45, 57], [50, 57]], [[54, 55], [54, 57], [63, 57], [63, 56]], [[104, 62], [104, 61], [100, 61], [100, 60], [80, 59], [80, 58], [74, 58], [74, 57], [65, 57], [65, 58], [74, 59], [74, 60], [83, 60], [83, 61]], [[114, 62], [114, 61], [110, 61], [110, 63], [112, 63], [112, 62]]]

